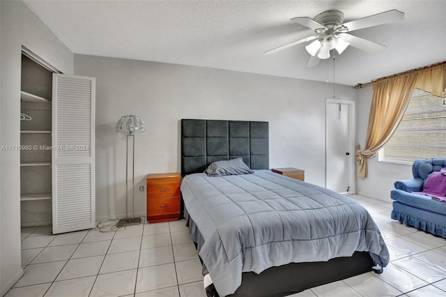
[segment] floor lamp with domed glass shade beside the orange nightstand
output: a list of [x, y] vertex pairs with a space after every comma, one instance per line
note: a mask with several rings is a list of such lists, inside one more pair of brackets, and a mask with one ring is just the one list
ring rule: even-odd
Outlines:
[[[136, 132], [144, 132], [146, 127], [139, 116], [132, 114], [121, 116], [116, 124], [116, 132], [125, 132], [127, 134], [127, 146], [125, 148], [125, 219], [118, 222], [118, 226], [128, 226], [131, 224], [141, 223], [141, 218], [134, 218], [134, 134]], [[128, 138], [132, 137], [132, 218], [128, 217]]]

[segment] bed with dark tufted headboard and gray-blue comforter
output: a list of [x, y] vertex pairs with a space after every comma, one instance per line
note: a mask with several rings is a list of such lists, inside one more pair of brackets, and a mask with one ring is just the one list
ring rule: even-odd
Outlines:
[[[213, 282], [208, 296], [287, 296], [382, 272], [389, 254], [369, 213], [354, 199], [270, 172], [268, 137], [267, 122], [181, 120], [184, 215], [205, 283]], [[227, 160], [253, 171], [203, 173]]]

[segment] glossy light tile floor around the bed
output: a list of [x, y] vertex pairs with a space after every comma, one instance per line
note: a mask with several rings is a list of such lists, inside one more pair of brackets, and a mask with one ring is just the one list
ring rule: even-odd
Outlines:
[[[364, 273], [292, 296], [446, 296], [446, 240], [390, 219], [390, 203], [351, 197], [378, 224], [390, 264], [380, 275]], [[105, 233], [22, 228], [22, 267], [23, 277], [6, 297], [206, 296], [184, 220]]]

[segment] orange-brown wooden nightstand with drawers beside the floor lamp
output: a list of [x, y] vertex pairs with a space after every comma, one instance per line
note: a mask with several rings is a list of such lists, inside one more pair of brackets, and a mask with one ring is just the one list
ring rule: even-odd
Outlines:
[[178, 173], [147, 174], [147, 220], [167, 222], [180, 218], [180, 183]]

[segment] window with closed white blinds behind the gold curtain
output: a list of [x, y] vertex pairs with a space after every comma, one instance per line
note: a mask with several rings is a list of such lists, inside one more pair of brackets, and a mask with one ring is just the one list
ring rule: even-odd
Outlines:
[[417, 159], [446, 158], [446, 105], [443, 98], [415, 89], [394, 135], [378, 160], [412, 164]]

